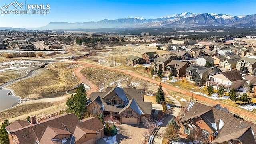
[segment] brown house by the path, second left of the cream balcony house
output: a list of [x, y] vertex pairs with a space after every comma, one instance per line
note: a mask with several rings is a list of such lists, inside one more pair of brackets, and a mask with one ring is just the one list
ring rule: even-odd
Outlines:
[[166, 74], [170, 74], [172, 72], [173, 76], [183, 76], [186, 74], [185, 69], [190, 65], [186, 62], [172, 60], [168, 64], [166, 64]]

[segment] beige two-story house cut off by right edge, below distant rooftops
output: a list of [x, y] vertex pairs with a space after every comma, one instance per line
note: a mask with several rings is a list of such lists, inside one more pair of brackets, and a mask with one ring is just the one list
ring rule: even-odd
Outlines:
[[256, 59], [254, 58], [243, 57], [236, 64], [237, 70], [252, 72], [254, 68], [256, 68]]

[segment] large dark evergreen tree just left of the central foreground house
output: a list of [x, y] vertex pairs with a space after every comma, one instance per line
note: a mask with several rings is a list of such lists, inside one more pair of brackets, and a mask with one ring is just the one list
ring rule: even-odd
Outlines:
[[87, 94], [84, 86], [79, 86], [76, 90], [76, 94], [72, 95], [68, 98], [66, 105], [68, 108], [66, 109], [67, 113], [74, 112], [79, 120], [83, 119], [86, 112], [86, 102], [87, 102]]

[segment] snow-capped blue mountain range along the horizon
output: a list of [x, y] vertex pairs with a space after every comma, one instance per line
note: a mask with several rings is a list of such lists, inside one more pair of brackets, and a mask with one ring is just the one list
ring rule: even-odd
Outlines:
[[142, 17], [100, 20], [98, 22], [50, 22], [36, 29], [79, 29], [79, 28], [188, 28], [198, 26], [256, 26], [256, 14], [231, 16], [228, 14], [183, 12], [156, 19]]

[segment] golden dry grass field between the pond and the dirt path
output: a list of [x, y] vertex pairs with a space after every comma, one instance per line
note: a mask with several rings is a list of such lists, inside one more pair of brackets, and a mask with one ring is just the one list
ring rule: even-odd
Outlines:
[[15, 94], [21, 98], [60, 96], [80, 83], [73, 72], [78, 66], [80, 65], [50, 63], [37, 70], [34, 76], [10, 84], [7, 88], [15, 90]]

